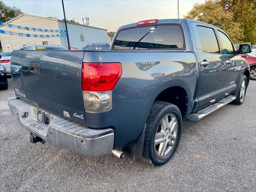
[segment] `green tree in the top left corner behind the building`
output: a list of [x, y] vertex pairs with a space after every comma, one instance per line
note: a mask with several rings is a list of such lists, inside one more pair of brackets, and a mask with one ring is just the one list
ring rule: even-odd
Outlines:
[[[12, 7], [6, 6], [6, 4], [4, 4], [4, 2], [2, 2], [1, 0], [0, 0], [0, 10], [2, 12], [5, 12], [7, 21], [23, 14], [23, 12], [19, 8], [16, 8], [14, 6], [12, 6]], [[0, 17], [0, 22], [5, 22], [5, 17], [1, 16]]]

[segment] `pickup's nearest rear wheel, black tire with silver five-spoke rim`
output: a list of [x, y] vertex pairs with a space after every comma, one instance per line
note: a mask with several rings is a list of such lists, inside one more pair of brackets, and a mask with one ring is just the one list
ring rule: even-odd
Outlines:
[[148, 115], [144, 157], [156, 166], [174, 155], [182, 132], [182, 116], [174, 104], [156, 101]]

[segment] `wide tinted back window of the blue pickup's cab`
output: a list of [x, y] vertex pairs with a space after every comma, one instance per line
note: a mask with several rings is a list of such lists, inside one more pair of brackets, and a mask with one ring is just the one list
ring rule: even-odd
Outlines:
[[144, 26], [122, 30], [117, 34], [114, 49], [183, 48], [183, 35], [178, 25]]

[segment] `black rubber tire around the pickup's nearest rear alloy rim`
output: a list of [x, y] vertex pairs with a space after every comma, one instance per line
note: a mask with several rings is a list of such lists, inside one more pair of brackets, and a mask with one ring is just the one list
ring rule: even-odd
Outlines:
[[[156, 148], [155, 148], [155, 134], [160, 127], [160, 122], [168, 114], [172, 114], [176, 117], [178, 130], [176, 131], [176, 134], [177, 134], [176, 140], [172, 148], [166, 155], [164, 155], [163, 157], [160, 157], [157, 154]], [[172, 158], [172, 156], [174, 155], [178, 147], [178, 144], [180, 142], [181, 132], [182, 132], [182, 116], [179, 108], [174, 104], [170, 104], [167, 102], [160, 102], [160, 101], [154, 102], [150, 109], [150, 113], [148, 114], [148, 119], [146, 124], [146, 135], [145, 135], [144, 149], [143, 149], [144, 157], [156, 166], [161, 166], [166, 162], [168, 162], [170, 158]]]

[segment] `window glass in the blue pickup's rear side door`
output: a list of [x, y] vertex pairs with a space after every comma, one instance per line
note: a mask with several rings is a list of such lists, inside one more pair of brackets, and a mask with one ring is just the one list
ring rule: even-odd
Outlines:
[[201, 43], [201, 49], [208, 53], [220, 53], [218, 41], [213, 28], [196, 26]]

